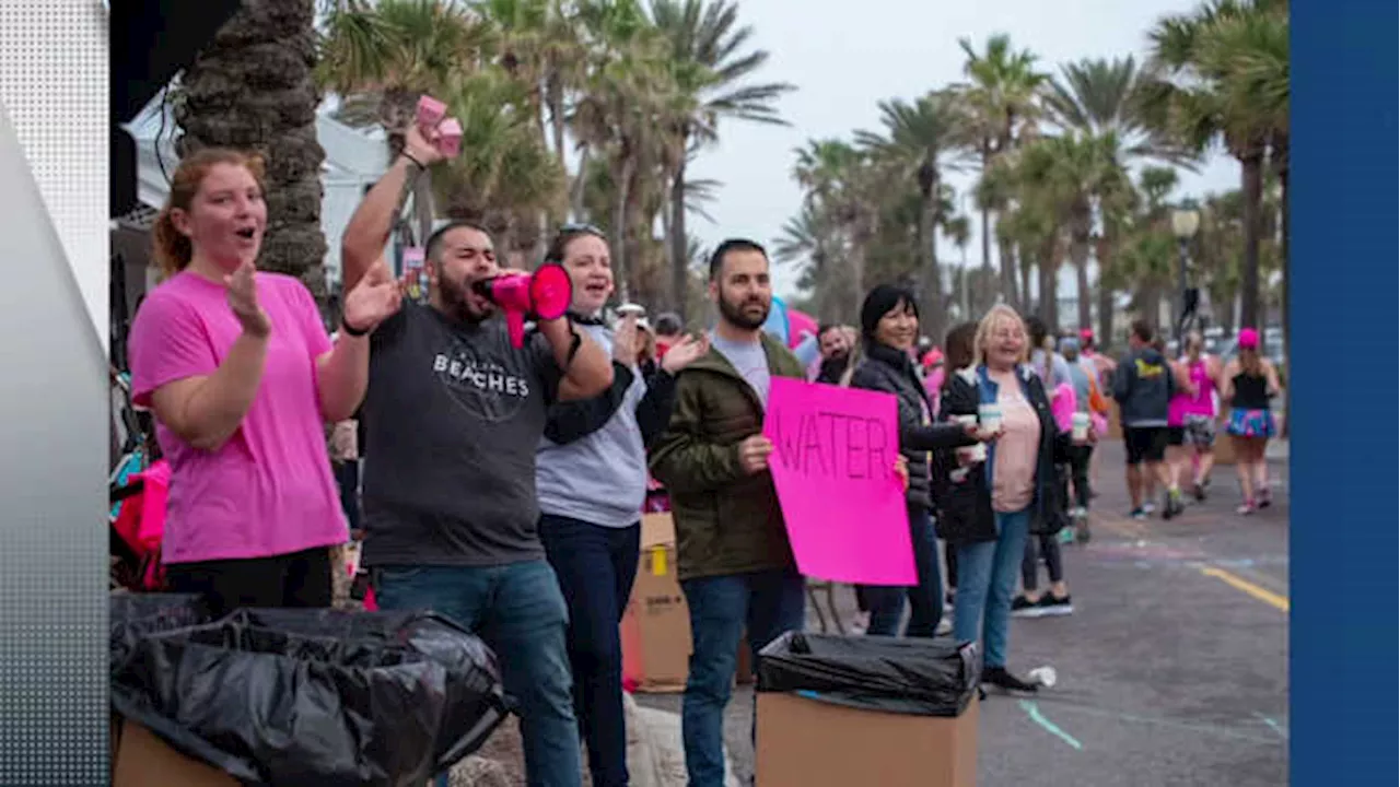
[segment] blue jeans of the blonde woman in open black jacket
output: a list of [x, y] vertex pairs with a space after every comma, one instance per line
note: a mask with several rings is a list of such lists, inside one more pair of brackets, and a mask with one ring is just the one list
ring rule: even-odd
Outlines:
[[986, 643], [983, 664], [1007, 665], [1011, 597], [1026, 552], [1030, 508], [997, 513], [997, 541], [958, 548], [958, 595], [953, 598], [953, 636], [959, 643]]

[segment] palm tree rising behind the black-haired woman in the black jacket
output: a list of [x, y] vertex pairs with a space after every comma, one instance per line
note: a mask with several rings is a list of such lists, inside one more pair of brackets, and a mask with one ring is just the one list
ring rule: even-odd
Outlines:
[[939, 197], [942, 176], [956, 169], [965, 155], [966, 116], [962, 104], [948, 91], [932, 92], [913, 104], [893, 99], [879, 104], [883, 136], [858, 132], [855, 141], [881, 160], [897, 182], [913, 183], [918, 195], [914, 221], [918, 290], [928, 307], [928, 329], [942, 335], [946, 298], [938, 269], [935, 227], [942, 218]]

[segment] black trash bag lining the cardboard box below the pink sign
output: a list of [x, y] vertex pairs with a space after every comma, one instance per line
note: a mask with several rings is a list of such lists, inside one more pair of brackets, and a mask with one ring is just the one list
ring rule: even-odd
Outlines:
[[788, 632], [759, 651], [760, 692], [910, 716], [956, 717], [981, 678], [977, 646], [952, 639]]

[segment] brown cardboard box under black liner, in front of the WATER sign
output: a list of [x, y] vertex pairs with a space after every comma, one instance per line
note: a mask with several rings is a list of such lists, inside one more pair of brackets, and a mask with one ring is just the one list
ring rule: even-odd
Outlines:
[[760, 693], [757, 787], [976, 787], [976, 697], [958, 718]]

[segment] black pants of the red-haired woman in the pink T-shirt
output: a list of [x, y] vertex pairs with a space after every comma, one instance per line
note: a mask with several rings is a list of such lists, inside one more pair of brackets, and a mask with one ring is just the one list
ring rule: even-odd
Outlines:
[[204, 597], [221, 618], [241, 606], [330, 606], [330, 548], [316, 546], [239, 560], [203, 560], [165, 566], [171, 592]]

